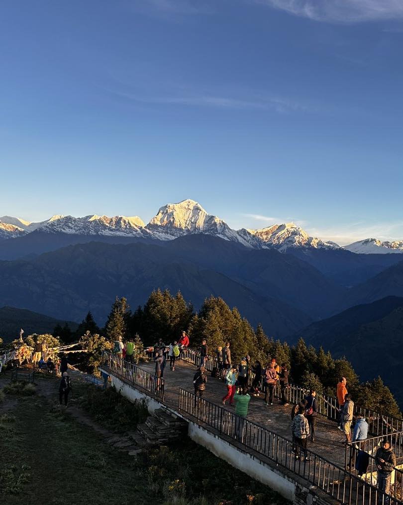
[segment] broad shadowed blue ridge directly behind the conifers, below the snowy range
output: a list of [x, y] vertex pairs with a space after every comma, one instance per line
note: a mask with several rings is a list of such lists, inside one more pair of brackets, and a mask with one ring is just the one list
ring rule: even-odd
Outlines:
[[222, 296], [252, 324], [261, 322], [273, 335], [289, 334], [310, 321], [298, 309], [255, 293], [221, 273], [181, 262], [156, 245], [91, 242], [48, 252], [32, 261], [0, 262], [0, 304], [55, 317], [80, 320], [91, 310], [101, 322], [115, 296], [126, 296], [135, 308], [158, 287], [181, 290], [195, 307], [211, 294]]

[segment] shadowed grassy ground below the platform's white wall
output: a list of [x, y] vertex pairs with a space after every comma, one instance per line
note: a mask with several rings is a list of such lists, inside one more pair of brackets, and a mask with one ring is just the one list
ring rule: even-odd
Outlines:
[[7, 505], [286, 503], [186, 436], [133, 458], [42, 396], [19, 396], [0, 416], [0, 447]]

